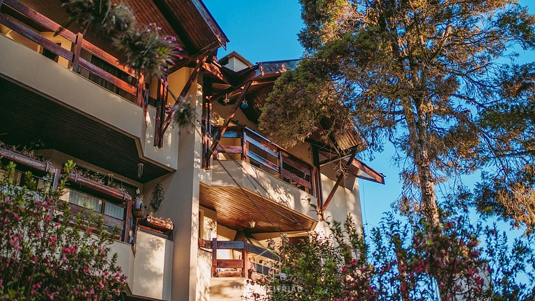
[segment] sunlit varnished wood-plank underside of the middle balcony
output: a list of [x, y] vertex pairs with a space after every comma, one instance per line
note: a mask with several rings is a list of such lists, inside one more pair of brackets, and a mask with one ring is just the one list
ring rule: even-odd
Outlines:
[[[278, 233], [310, 231], [317, 221], [243, 187], [215, 187], [201, 183], [200, 204], [217, 212], [217, 222], [236, 231]], [[252, 214], [252, 215], [251, 215]], [[254, 228], [249, 227], [252, 219]]]

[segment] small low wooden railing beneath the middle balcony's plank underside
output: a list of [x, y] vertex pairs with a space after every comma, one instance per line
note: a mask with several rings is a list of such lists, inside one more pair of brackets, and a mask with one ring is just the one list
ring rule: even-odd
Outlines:
[[[277, 272], [276, 264], [265, 265], [262, 264], [265, 261], [272, 261], [277, 263], [280, 261], [280, 257], [274, 254], [269, 249], [258, 247], [253, 245], [247, 240], [203, 240], [199, 238], [199, 247], [212, 251], [212, 277], [219, 277], [217, 269], [240, 269], [241, 277], [251, 277], [251, 272], [256, 272], [261, 275], [270, 275], [271, 272]], [[222, 259], [217, 258], [217, 250], [226, 249], [232, 251], [238, 251], [241, 253], [240, 259]], [[249, 261], [249, 254], [254, 254], [255, 258], [262, 259], [262, 261]]]

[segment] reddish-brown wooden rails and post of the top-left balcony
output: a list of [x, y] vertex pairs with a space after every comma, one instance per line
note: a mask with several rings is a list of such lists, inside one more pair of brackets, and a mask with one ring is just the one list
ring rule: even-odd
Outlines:
[[[56, 32], [59, 34], [59, 36], [62, 36], [63, 38], [69, 40], [72, 43], [72, 49], [69, 50], [61, 47], [60, 45], [56, 45], [56, 43], [42, 36], [38, 30], [32, 29], [28, 24], [24, 24], [19, 20], [15, 20], [15, 17], [13, 15], [16, 14], [8, 15], [8, 10], [2, 10], [2, 12], [0, 13], [0, 24], [7, 26], [9, 29], [19, 33], [25, 38], [28, 38], [34, 43], [45, 47], [50, 52], [53, 52], [54, 54], [63, 57], [70, 63], [73, 72], [79, 73], [81, 71], [80, 68], [84, 68], [88, 70], [88, 72], [91, 72], [91, 74], [96, 75], [101, 79], [104, 79], [105, 81], [118, 87], [122, 91], [125, 91], [126, 93], [133, 95], [134, 97], [137, 97], [137, 104], [141, 105], [141, 102], [139, 101], [139, 95], [143, 95], [142, 90], [145, 86], [145, 83], [143, 77], [134, 72], [132, 68], [121, 64], [116, 57], [112, 56], [107, 52], [104, 52], [104, 50], [96, 47], [87, 40], [84, 40], [84, 37], [81, 33], [73, 33], [72, 31], [63, 28], [60, 24], [57, 24], [56, 22], [50, 20], [44, 15], [38, 13], [36, 10], [24, 6], [24, 4], [20, 3], [17, 0], [3, 0], [1, 3], [3, 6], [7, 6], [11, 10], [15, 10], [17, 13], [28, 17], [33, 22], [36, 22], [36, 24], [38, 24], [39, 26], [42, 26], [45, 29], [49, 29], [49, 31]], [[84, 59], [81, 56], [82, 49], [84, 49], [86, 52], [89, 52], [93, 56], [97, 56], [99, 59], [102, 59], [102, 61], [109, 63], [109, 65], [112, 65], [114, 68], [117, 68], [121, 72], [125, 72], [126, 75], [137, 79], [137, 86], [132, 86], [132, 84], [125, 82], [123, 79], [112, 75], [106, 70], [103, 70], [97, 65]]]

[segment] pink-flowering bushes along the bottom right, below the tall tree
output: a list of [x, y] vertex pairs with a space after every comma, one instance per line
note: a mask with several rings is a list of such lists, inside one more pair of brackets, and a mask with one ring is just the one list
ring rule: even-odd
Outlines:
[[[283, 238], [275, 252], [279, 275], [268, 277], [267, 300], [531, 300], [533, 237], [509, 247], [495, 226], [472, 226], [465, 217], [443, 233], [403, 224], [391, 215], [366, 245], [351, 219], [332, 235], [311, 234], [300, 245]], [[483, 239], [481, 243], [479, 240]], [[372, 250], [372, 251], [370, 251]], [[523, 280], [522, 280], [523, 279]], [[437, 291], [440, 287], [442, 291]]]

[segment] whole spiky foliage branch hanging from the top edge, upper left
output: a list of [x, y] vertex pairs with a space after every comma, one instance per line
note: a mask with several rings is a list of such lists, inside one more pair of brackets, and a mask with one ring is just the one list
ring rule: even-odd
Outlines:
[[162, 36], [155, 24], [142, 26], [132, 10], [111, 0], [63, 0], [69, 19], [63, 27], [76, 23], [83, 32], [91, 30], [114, 41], [123, 52], [125, 63], [148, 79], [162, 77], [174, 59], [181, 59], [182, 48], [172, 36]]

